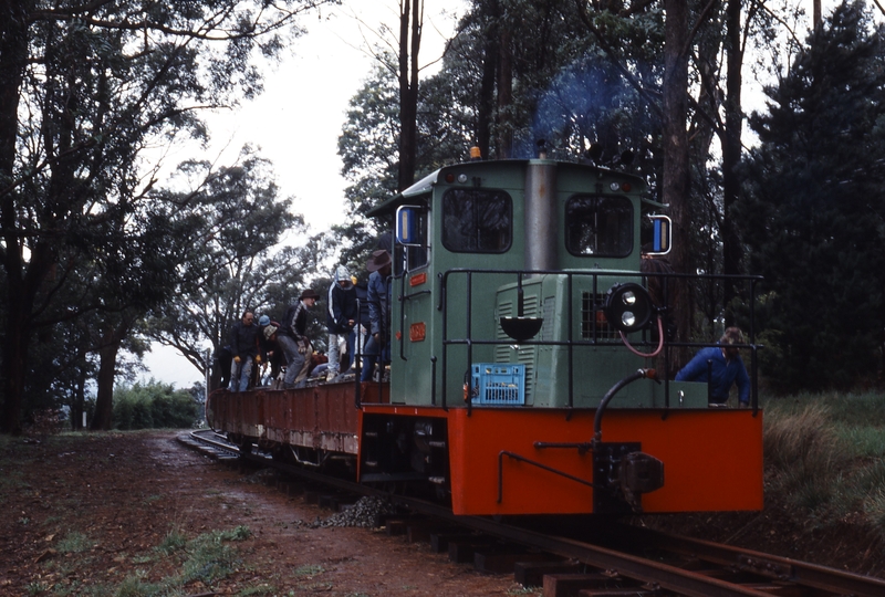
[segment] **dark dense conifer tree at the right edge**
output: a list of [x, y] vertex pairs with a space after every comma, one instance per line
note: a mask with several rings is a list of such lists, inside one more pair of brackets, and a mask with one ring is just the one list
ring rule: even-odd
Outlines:
[[885, 327], [885, 29], [844, 3], [750, 118], [760, 146], [739, 206], [777, 389], [847, 388], [875, 375]]

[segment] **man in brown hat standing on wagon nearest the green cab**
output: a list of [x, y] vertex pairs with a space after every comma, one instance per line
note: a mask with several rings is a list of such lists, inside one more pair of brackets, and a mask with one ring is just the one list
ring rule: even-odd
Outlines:
[[[369, 336], [366, 342], [365, 366], [360, 376], [361, 381], [372, 379], [375, 363], [379, 362], [379, 373], [383, 375], [384, 364], [391, 359], [391, 253], [379, 249], [372, 253], [372, 259], [366, 263], [366, 270], [372, 272], [368, 276], [368, 320]], [[381, 358], [378, 358], [381, 357]]]

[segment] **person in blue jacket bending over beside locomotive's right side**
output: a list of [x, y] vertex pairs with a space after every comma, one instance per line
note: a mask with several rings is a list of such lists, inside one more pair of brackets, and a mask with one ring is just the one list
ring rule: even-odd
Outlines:
[[701, 348], [688, 365], [676, 374], [676, 381], [701, 381], [710, 385], [710, 404], [723, 405], [728, 401], [731, 386], [738, 385], [738, 401], [746, 407], [750, 404], [750, 376], [740, 358], [738, 347], [743, 344], [743, 334], [738, 327], [729, 327], [719, 339], [718, 346]]

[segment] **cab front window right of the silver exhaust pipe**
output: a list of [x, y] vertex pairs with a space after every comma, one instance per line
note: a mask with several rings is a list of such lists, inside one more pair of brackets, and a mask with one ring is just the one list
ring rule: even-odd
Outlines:
[[565, 248], [573, 255], [627, 256], [633, 251], [633, 203], [626, 197], [572, 197], [565, 203]]

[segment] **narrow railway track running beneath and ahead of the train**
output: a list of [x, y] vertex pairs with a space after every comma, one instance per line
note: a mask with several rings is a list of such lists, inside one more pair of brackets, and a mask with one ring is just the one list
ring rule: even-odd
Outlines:
[[[537, 531], [523, 525], [503, 524], [492, 519], [456, 516], [447, 509], [423, 500], [393, 495], [366, 485], [330, 478], [273, 461], [261, 453], [241, 453], [236, 446], [211, 430], [194, 431], [190, 437], [195, 443], [210, 446], [214, 451], [239, 454], [246, 461], [272, 465], [302, 479], [356, 494], [387, 498], [416, 513], [582, 563], [593, 568], [587, 570], [589, 574], [579, 575], [586, 577], [589, 586], [594, 582], [597, 586], [617, 586], [615, 589], [584, 589], [580, 594], [582, 596], [885, 596], [885, 580], [881, 578], [620, 523], [593, 524], [580, 528], [572, 526], [569, 534], [592, 534], [593, 541], [598, 543], [592, 544], [550, 534], [549, 527], [546, 531]], [[643, 555], [637, 555], [639, 553]], [[580, 578], [572, 575], [570, 580], [574, 584]], [[555, 582], [552, 583], [552, 588], [555, 589]]]

